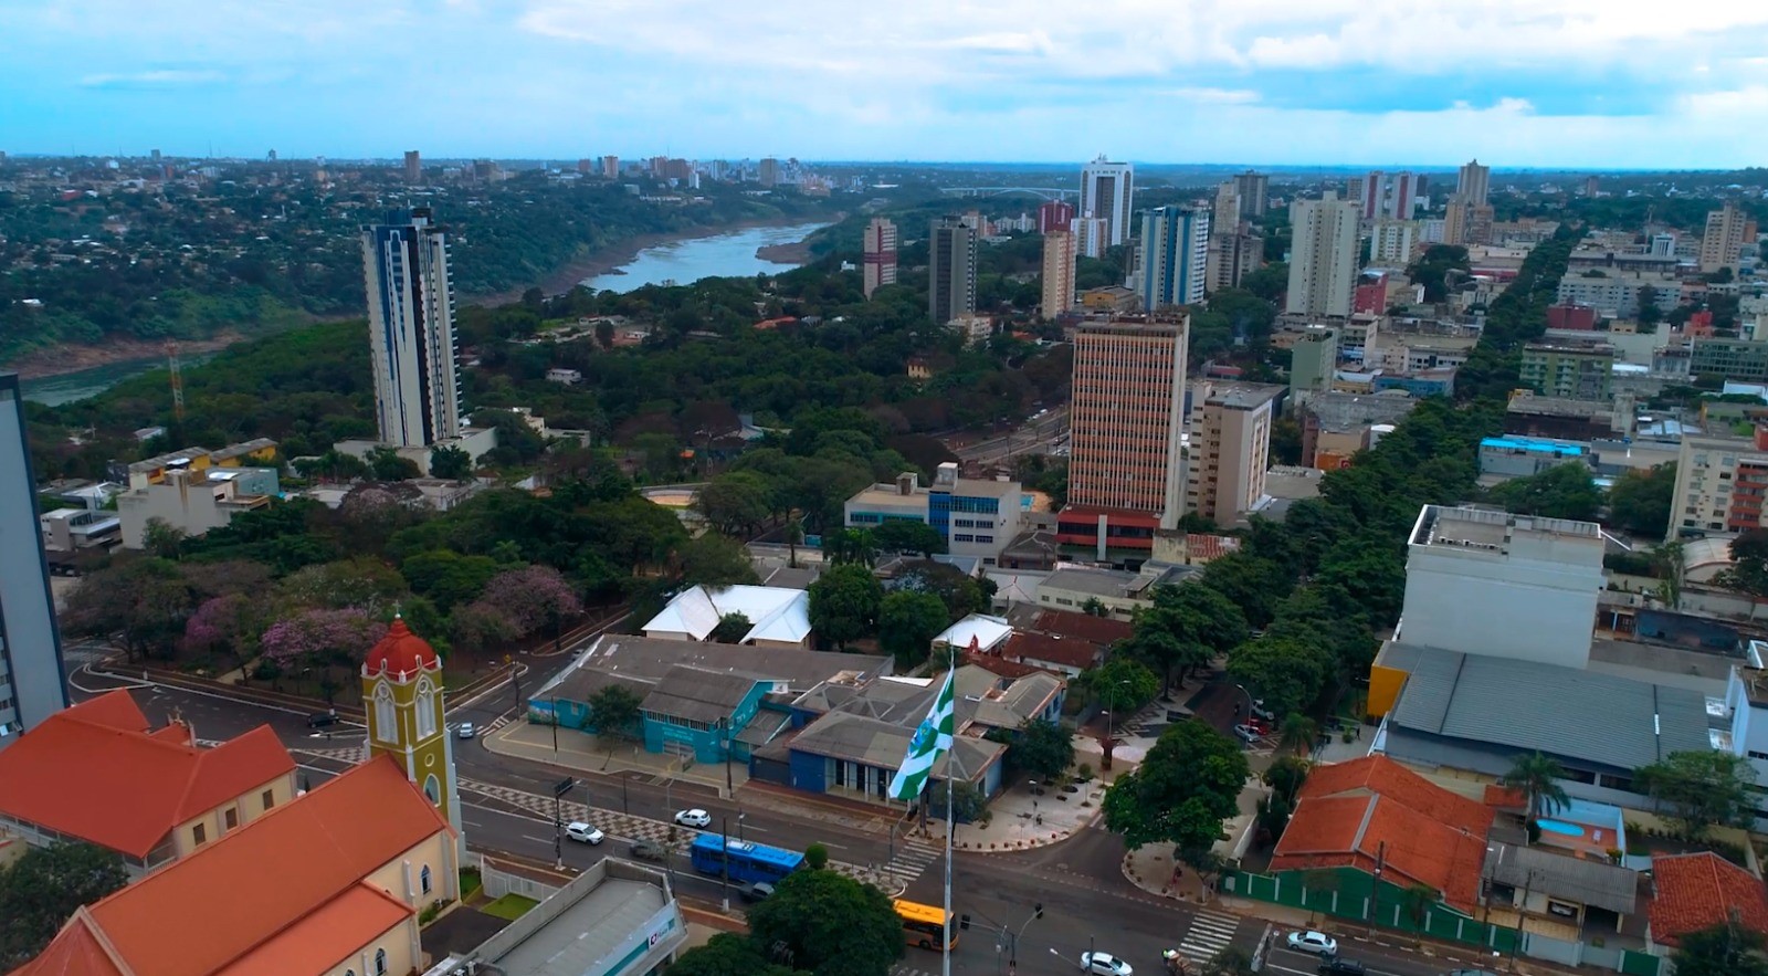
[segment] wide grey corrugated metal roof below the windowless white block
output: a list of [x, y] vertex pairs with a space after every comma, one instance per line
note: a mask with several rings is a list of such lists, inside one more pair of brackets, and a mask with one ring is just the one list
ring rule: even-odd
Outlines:
[[1699, 691], [1436, 647], [1416, 649], [1391, 721], [1616, 769], [1711, 748]]

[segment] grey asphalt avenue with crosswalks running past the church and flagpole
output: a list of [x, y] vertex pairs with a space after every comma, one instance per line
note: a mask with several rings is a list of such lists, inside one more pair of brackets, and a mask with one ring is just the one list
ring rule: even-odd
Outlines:
[[[523, 686], [534, 688], [552, 670], [564, 667], [571, 654], [534, 658]], [[191, 721], [205, 741], [235, 737], [258, 725], [271, 725], [295, 755], [306, 787], [316, 787], [341, 773], [361, 750], [362, 728], [341, 725], [331, 734], [306, 727], [306, 713], [240, 702], [221, 695], [141, 686], [141, 682], [106, 679], [87, 670], [74, 674], [76, 698], [108, 688], [129, 688], [154, 725], [173, 714]], [[514, 693], [506, 686], [477, 700], [449, 709], [449, 725], [472, 721], [493, 728], [507, 721]], [[461, 780], [461, 820], [469, 843], [502, 850], [536, 863], [555, 858], [552, 785], [562, 776], [576, 776], [580, 785], [566, 797], [566, 819], [585, 817], [608, 833], [608, 842], [591, 847], [562, 842], [559, 854], [569, 868], [587, 868], [608, 854], [628, 854], [640, 836], [652, 840], [668, 831], [679, 808], [698, 806], [713, 813], [714, 824], [727, 817], [732, 831], [748, 840], [803, 849], [810, 840], [829, 847], [831, 861], [850, 873], [870, 873], [905, 886], [902, 896], [939, 904], [942, 900], [942, 859], [937, 847], [903, 842], [865, 829], [854, 817], [815, 817], [803, 810], [771, 810], [739, 790], [734, 801], [697, 783], [674, 783], [651, 774], [594, 776], [541, 762], [500, 757], [477, 741], [456, 741], [456, 767]], [[746, 803], [748, 801], [748, 803]], [[766, 799], [762, 799], [766, 803]], [[739, 826], [741, 824], [741, 826]], [[1158, 976], [1160, 951], [1177, 948], [1204, 962], [1216, 951], [1236, 946], [1254, 951], [1266, 935], [1264, 921], [1241, 918], [1220, 909], [1170, 902], [1144, 893], [1121, 873], [1123, 842], [1096, 827], [1080, 831], [1059, 845], [1011, 854], [958, 854], [953, 866], [955, 911], [969, 914], [972, 926], [960, 934], [953, 953], [953, 972], [967, 976], [1004, 976], [1017, 949], [1015, 976], [1055, 976], [1078, 971], [1078, 957], [1089, 948], [1119, 955], [1139, 972]], [[677, 889], [691, 898], [718, 904], [723, 896], [718, 879], [705, 879], [686, 868], [684, 858], [672, 865]], [[1034, 905], [1041, 918], [1031, 918]], [[1010, 935], [1024, 932], [1015, 937]], [[1404, 951], [1363, 946], [1345, 934], [1344, 955], [1370, 965], [1383, 976], [1437, 976], [1446, 967]], [[1013, 944], [1017, 942], [1017, 946]], [[1367, 949], [1367, 951], [1365, 951]], [[1287, 949], [1275, 949], [1266, 971], [1314, 972], [1315, 960]], [[896, 967], [898, 976], [939, 972], [939, 955], [909, 949]]]

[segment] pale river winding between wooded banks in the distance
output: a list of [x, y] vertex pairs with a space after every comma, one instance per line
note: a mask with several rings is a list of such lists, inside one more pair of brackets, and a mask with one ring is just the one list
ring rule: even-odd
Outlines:
[[[635, 288], [644, 288], [645, 285], [663, 285], [665, 281], [688, 285], [702, 278], [755, 278], [760, 272], [794, 267], [757, 258], [757, 248], [766, 248], [769, 244], [792, 244], [810, 237], [812, 232], [824, 226], [829, 226], [827, 221], [789, 226], [750, 226], [709, 237], [670, 240], [667, 244], [638, 251], [633, 260], [621, 265], [619, 271], [624, 274], [598, 274], [594, 278], [585, 278], [583, 285], [596, 290], [612, 288], [615, 292], [631, 292]], [[196, 366], [198, 362], [207, 362], [210, 355], [212, 354], [184, 355], [182, 364]], [[74, 373], [60, 373], [57, 377], [39, 377], [35, 380], [23, 382], [25, 400], [44, 403], [48, 407], [60, 407], [62, 403], [97, 396], [129, 377], [138, 377], [149, 370], [163, 370], [164, 366], [166, 357], [154, 355], [145, 359], [106, 362], [104, 366], [94, 366], [92, 370], [80, 370]]]

